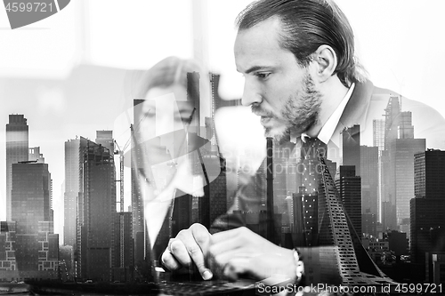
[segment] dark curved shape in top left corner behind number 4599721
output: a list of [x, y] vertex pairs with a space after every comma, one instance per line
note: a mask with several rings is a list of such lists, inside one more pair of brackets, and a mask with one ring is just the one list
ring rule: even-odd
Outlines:
[[28, 26], [44, 20], [67, 7], [70, 0], [4, 0], [11, 28]]

